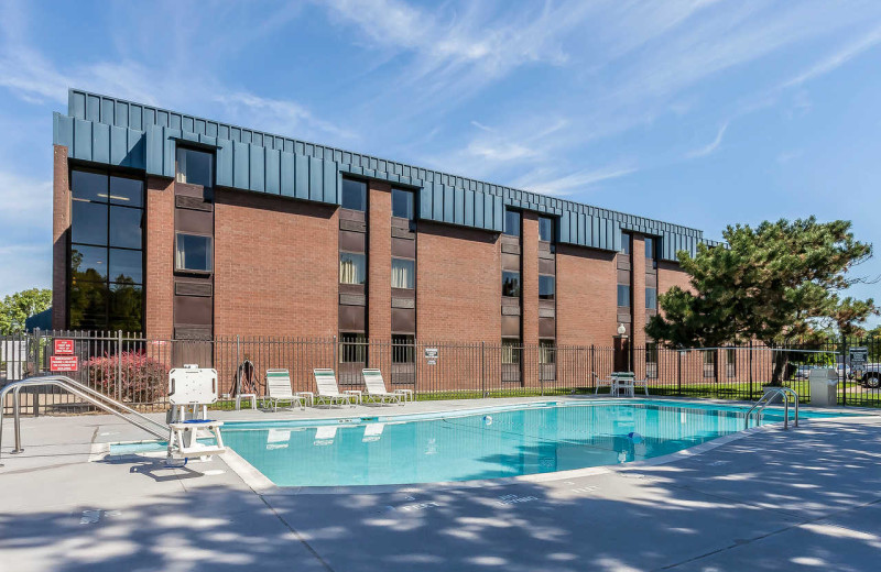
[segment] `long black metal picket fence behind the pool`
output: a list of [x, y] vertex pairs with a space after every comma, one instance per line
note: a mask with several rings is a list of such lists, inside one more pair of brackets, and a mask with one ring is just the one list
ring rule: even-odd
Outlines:
[[[860, 353], [866, 362], [851, 367], [851, 354]], [[879, 362], [881, 342], [873, 339], [671, 350], [654, 344], [395, 343], [348, 338], [165, 340], [69, 331], [0, 338], [0, 385], [30, 375], [63, 373], [143, 410], [167, 407], [167, 373], [185, 364], [216, 369], [224, 400], [235, 398], [237, 392], [263, 395], [269, 369], [286, 369], [293, 391], [313, 391], [315, 367], [334, 369], [345, 389], [361, 388], [361, 370], [377, 367], [390, 389], [412, 389], [418, 399], [594, 393], [597, 380], [626, 370], [645, 378], [652, 395], [754, 400], [776, 365], [782, 382], [807, 402], [811, 370], [833, 367], [839, 375], [839, 405], [879, 407]], [[11, 402], [3, 406], [11, 408]], [[22, 406], [25, 415], [89, 410], [75, 397], [48, 388], [23, 392]]]

